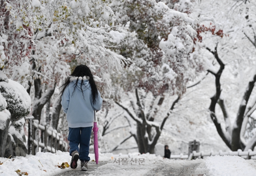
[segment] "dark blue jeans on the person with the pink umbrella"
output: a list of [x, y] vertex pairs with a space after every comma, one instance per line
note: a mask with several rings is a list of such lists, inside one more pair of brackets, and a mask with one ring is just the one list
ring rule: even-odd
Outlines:
[[[93, 127], [68, 128], [69, 155], [72, 156], [73, 151], [79, 152], [80, 161], [90, 161], [89, 145]], [[80, 144], [80, 148], [78, 145]]]

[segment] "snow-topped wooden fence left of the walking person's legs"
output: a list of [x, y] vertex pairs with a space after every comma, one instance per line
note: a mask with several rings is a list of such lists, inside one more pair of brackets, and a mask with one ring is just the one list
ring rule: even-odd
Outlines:
[[57, 150], [67, 151], [68, 145], [63, 137], [52, 127], [39, 124], [33, 116], [26, 117], [28, 121], [28, 154], [35, 155], [39, 151], [56, 153]]

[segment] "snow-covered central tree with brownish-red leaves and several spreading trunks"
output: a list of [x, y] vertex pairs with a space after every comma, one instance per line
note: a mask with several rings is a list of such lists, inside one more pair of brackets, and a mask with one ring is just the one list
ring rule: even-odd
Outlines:
[[[191, 2], [187, 2], [117, 0], [112, 5], [117, 16], [116, 28], [127, 36], [112, 49], [132, 61], [122, 74], [113, 76], [117, 87], [113, 98], [126, 112], [131, 128], [130, 135], [114, 149], [134, 137], [140, 153], [154, 153], [167, 118], [186, 92], [187, 82], [204, 69], [200, 47], [196, 45], [201, 42], [201, 26], [188, 16], [192, 9]], [[123, 90], [129, 100], [124, 101]], [[166, 95], [176, 95], [176, 100], [161, 107]], [[155, 122], [161, 108], [166, 113], [160, 123]]]

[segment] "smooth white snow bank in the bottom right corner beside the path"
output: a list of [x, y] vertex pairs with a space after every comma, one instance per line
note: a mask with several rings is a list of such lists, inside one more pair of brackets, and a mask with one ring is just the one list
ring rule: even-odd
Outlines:
[[211, 176], [256, 175], [256, 161], [240, 156], [210, 156], [205, 159], [205, 164]]

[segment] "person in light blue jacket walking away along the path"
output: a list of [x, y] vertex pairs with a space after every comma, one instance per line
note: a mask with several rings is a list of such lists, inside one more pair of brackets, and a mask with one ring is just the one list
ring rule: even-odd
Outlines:
[[[67, 114], [70, 167], [75, 169], [78, 159], [81, 170], [87, 170], [90, 161], [89, 144], [92, 133], [94, 110], [99, 111], [102, 98], [86, 65], [76, 66], [73, 73], [62, 84], [61, 105]], [[80, 145], [80, 148], [78, 147]]]

